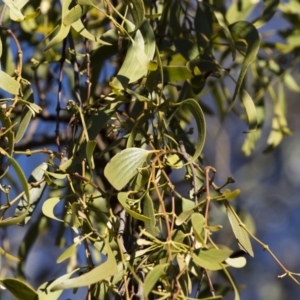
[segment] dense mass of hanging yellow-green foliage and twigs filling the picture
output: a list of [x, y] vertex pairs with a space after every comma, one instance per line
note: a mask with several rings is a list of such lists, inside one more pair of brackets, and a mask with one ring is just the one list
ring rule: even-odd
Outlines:
[[[282, 268], [281, 277], [299, 284], [243, 223], [234, 200], [240, 191], [227, 188], [233, 180], [219, 178], [224, 184], [217, 185], [218, 166], [201, 160], [211, 107], [221, 120], [233, 112], [247, 124], [245, 155], [261, 138], [267, 95], [272, 126], [265, 151], [291, 133], [285, 93], [300, 91], [292, 73], [300, 57], [300, 6], [255, 2], [1, 3], [6, 203], [0, 227], [28, 225], [17, 255], [5, 244], [0, 248], [9, 262], [1, 274], [16, 275], [0, 283], [17, 299], [55, 300], [81, 287], [86, 299], [222, 299], [229, 287], [238, 300], [231, 268], [244, 267], [246, 258], [218, 243], [215, 233], [222, 235], [223, 224], [212, 205], [227, 215], [242, 252], [254, 256], [254, 240]], [[260, 28], [276, 14], [287, 26], [272, 39]], [[41, 153], [39, 166], [26, 166], [33, 170], [27, 180], [19, 158]], [[188, 195], [181, 194], [179, 180]], [[44, 190], [47, 199], [36, 209]], [[35, 290], [25, 264], [53, 222], [60, 223], [55, 239], [64, 249], [56, 263], [67, 268]], [[78, 263], [82, 247], [84, 265]], [[223, 285], [215, 285], [218, 276], [226, 279]]]

